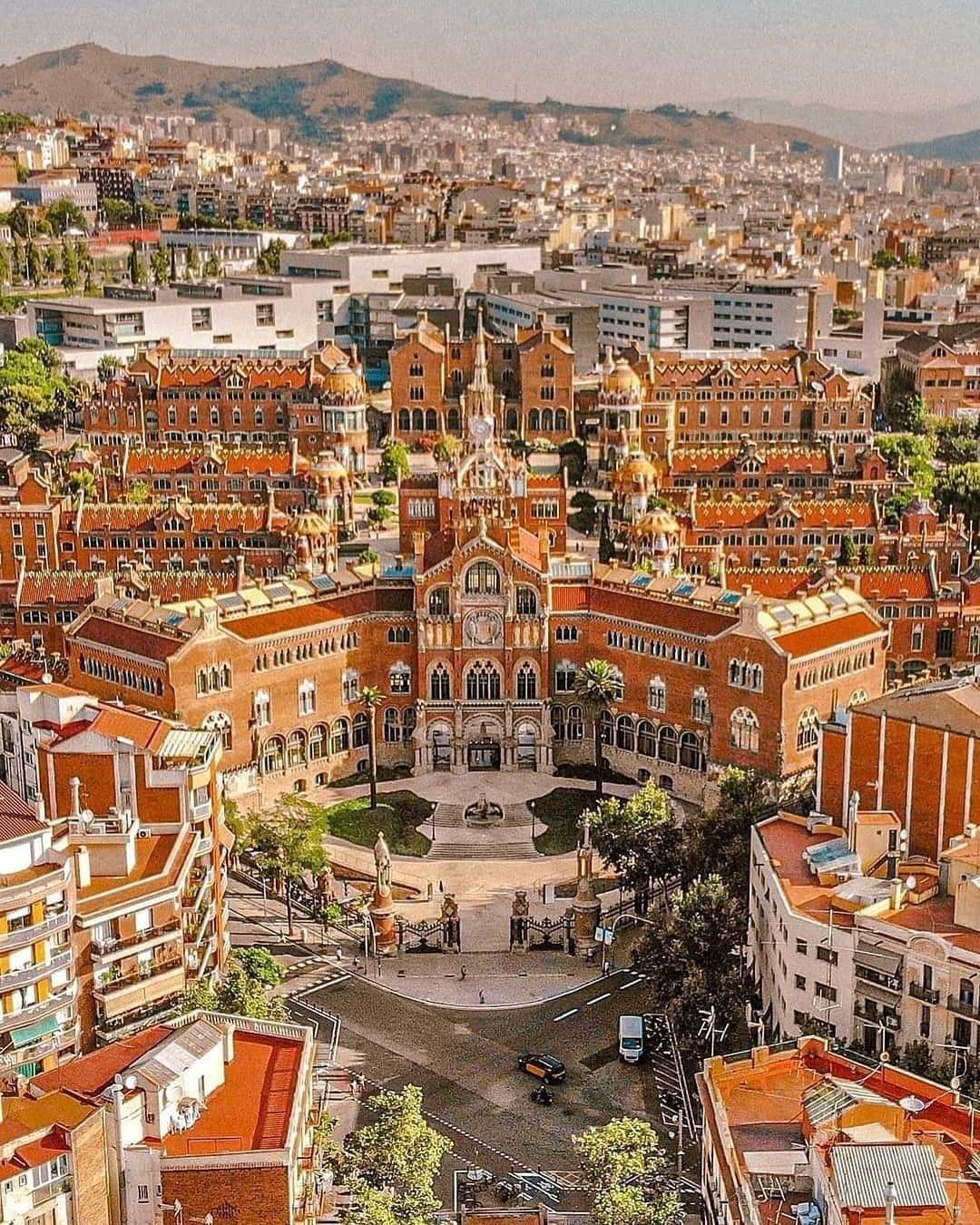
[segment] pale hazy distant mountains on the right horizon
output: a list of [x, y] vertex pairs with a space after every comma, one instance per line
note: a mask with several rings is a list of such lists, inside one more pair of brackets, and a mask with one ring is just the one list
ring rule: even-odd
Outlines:
[[805, 127], [844, 145], [867, 149], [908, 147], [911, 152], [914, 146], [921, 146], [921, 157], [947, 156], [929, 152], [926, 142], [954, 140], [948, 136], [949, 132], [970, 134], [980, 129], [980, 99], [921, 111], [848, 110], [783, 98], [725, 98], [710, 105], [717, 110], [730, 110], [745, 120]]

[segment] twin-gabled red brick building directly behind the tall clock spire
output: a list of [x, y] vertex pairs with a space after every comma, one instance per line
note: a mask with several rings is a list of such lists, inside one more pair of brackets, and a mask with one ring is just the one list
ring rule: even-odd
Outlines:
[[391, 350], [392, 432], [462, 437], [473, 394], [490, 388], [497, 437], [560, 443], [575, 434], [575, 352], [564, 332], [537, 327], [513, 339], [451, 337], [423, 318]]

